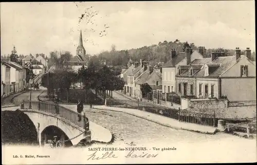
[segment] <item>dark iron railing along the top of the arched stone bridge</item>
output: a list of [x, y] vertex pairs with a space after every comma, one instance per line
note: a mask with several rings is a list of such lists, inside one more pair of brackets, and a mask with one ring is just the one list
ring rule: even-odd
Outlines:
[[[21, 109], [29, 109], [29, 101], [24, 101], [21, 105]], [[60, 117], [75, 123], [77, 126], [83, 127], [86, 131], [89, 130], [89, 120], [85, 115], [72, 111], [58, 104], [51, 102], [31, 101], [31, 109], [60, 115]]]

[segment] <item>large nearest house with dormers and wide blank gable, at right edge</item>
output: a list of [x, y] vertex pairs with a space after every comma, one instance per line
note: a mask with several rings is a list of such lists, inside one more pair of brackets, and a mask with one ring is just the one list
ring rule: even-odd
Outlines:
[[234, 56], [212, 52], [210, 58], [195, 59], [188, 66], [179, 66], [177, 94], [197, 98], [222, 98], [229, 101], [256, 100], [255, 65], [250, 60], [251, 50]]

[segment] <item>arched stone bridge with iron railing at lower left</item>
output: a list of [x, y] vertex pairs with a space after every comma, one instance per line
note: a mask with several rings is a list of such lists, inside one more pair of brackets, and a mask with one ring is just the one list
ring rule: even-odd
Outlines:
[[[77, 145], [82, 139], [90, 142], [89, 121], [85, 115], [57, 104], [41, 101], [32, 101], [31, 106], [29, 101], [23, 102], [20, 111], [33, 122], [40, 146], [45, 145], [47, 140], [53, 139], [53, 136], [57, 136], [57, 140], [63, 141], [63, 147]], [[80, 121], [79, 116], [81, 117]]]

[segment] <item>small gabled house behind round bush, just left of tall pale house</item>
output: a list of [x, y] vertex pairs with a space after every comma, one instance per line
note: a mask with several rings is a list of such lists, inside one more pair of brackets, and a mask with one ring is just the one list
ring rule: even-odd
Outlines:
[[135, 80], [135, 97], [139, 100], [142, 98], [140, 86], [145, 83], [149, 84], [152, 90], [161, 89], [161, 80], [160, 71], [148, 65], [147, 69]]

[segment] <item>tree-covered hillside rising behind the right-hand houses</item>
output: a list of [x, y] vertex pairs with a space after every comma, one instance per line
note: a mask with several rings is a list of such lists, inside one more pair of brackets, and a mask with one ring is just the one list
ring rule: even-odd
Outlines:
[[[107, 65], [112, 66], [126, 66], [128, 63], [128, 60], [130, 58], [133, 61], [140, 61], [140, 59], [146, 59], [151, 61], [150, 64], [155, 65], [159, 62], [166, 63], [168, 60], [170, 60], [170, 53], [172, 49], [175, 49], [177, 53], [183, 51], [183, 47], [185, 47], [185, 44], [188, 44], [191, 46], [193, 50], [197, 50], [197, 46], [194, 45], [194, 43], [181, 43], [178, 39], [176, 39], [174, 42], [167, 42], [164, 40], [164, 42], [159, 42], [158, 45], [151, 45], [151, 46], [144, 46], [141, 48], [136, 49], [129, 49], [129, 50], [116, 50], [116, 46], [112, 45], [111, 51], [104, 51], [99, 53], [98, 55], [94, 55], [90, 57], [90, 60], [92, 61], [102, 61], [106, 60]], [[234, 55], [235, 50], [234, 49], [224, 49], [224, 48], [206, 48], [207, 57], [211, 56], [211, 52], [214, 50], [217, 51], [223, 51], [226, 53], [227, 56]], [[244, 51], [242, 49], [242, 54], [244, 54]], [[255, 61], [255, 53], [252, 52], [252, 60]]]

